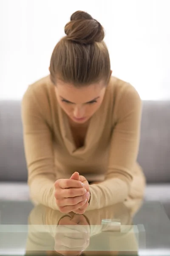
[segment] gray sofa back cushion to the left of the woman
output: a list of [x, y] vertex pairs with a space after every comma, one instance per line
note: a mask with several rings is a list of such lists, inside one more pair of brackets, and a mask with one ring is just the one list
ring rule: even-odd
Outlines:
[[0, 100], [0, 181], [27, 181], [20, 101]]

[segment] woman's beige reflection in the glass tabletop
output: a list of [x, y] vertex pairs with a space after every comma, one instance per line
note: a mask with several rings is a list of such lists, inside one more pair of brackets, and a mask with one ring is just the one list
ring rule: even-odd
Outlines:
[[[139, 209], [142, 201], [133, 207]], [[134, 210], [116, 204], [84, 215], [68, 214], [37, 205], [28, 219], [27, 254], [56, 251], [62, 255], [79, 255], [82, 251], [136, 252], [138, 244], [132, 226]], [[118, 226], [114, 223], [118, 223]], [[120, 224], [120, 225], [119, 225]], [[90, 241], [89, 241], [90, 239]]]

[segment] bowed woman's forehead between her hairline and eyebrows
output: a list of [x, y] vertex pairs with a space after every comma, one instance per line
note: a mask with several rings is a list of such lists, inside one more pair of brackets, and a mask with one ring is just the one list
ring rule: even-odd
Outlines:
[[105, 86], [98, 83], [77, 88], [72, 84], [58, 82], [55, 90], [58, 96], [70, 102], [84, 103], [101, 96], [105, 91]]

